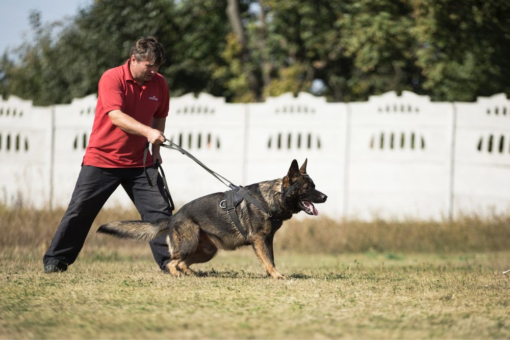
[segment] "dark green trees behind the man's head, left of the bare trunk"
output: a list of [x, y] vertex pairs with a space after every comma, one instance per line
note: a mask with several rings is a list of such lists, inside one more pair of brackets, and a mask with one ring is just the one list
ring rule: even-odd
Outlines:
[[[124, 63], [140, 37], [156, 36], [167, 62], [160, 68], [173, 96], [207, 91], [222, 95], [222, 83], [212, 81], [228, 27], [225, 4], [200, 0], [96, 1], [81, 9], [55, 34], [56, 25], [41, 27], [33, 18], [34, 42], [17, 50], [18, 62], [4, 55], [0, 77], [4, 94], [47, 105], [97, 92], [103, 72]], [[52, 39], [52, 37], [56, 38]]]

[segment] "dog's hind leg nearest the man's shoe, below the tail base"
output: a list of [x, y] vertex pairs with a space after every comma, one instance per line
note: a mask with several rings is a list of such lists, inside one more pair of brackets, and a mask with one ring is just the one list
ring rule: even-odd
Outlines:
[[196, 252], [200, 229], [189, 220], [184, 223], [175, 222], [167, 237], [170, 261], [166, 268], [171, 275], [179, 277], [183, 272], [186, 273], [186, 268], [181, 266], [181, 269], [179, 265]]

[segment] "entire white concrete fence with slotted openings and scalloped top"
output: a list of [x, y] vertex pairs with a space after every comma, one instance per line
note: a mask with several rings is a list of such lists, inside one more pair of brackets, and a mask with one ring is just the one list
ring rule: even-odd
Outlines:
[[[66, 206], [88, 143], [96, 96], [35, 107], [0, 101], [0, 200]], [[328, 195], [333, 218], [456, 218], [508, 213], [510, 100], [431, 102], [388, 92], [366, 102], [331, 103], [284, 94], [263, 103], [171, 98], [165, 135], [239, 185], [283, 177], [293, 159]], [[162, 149], [177, 205], [227, 190], [192, 160]], [[119, 188], [108, 206], [131, 206]]]

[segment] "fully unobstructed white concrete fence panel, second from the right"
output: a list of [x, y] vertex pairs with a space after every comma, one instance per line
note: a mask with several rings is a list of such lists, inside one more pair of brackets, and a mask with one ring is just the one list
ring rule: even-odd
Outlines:
[[404, 91], [351, 103], [348, 215], [447, 217], [453, 107]]

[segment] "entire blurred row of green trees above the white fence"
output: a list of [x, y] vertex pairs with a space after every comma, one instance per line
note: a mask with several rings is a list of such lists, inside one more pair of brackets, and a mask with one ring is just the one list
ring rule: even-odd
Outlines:
[[37, 105], [96, 93], [101, 74], [147, 35], [165, 47], [160, 73], [172, 96], [510, 94], [507, 1], [95, 0], [69, 21], [29, 20], [34, 38], [0, 58], [0, 94]]

